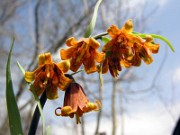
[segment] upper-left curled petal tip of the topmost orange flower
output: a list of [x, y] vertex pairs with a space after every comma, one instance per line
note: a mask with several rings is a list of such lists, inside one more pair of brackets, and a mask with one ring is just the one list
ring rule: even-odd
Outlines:
[[121, 33], [121, 31], [119, 30], [119, 28], [116, 25], [111, 25], [108, 30], [107, 30], [109, 36], [111, 38], [116, 38], [118, 36], [118, 34]]

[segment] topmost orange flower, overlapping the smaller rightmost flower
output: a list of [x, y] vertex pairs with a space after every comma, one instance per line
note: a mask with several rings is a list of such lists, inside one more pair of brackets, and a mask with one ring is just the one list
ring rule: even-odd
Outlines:
[[133, 57], [132, 47], [136, 40], [136, 37], [132, 35], [132, 31], [132, 20], [128, 20], [122, 29], [112, 25], [107, 30], [112, 39], [102, 48], [102, 51], [106, 55], [108, 54], [107, 60], [103, 63], [103, 73], [106, 73], [109, 69], [111, 75], [116, 77], [121, 71], [121, 64], [125, 67], [132, 65], [128, 62]]

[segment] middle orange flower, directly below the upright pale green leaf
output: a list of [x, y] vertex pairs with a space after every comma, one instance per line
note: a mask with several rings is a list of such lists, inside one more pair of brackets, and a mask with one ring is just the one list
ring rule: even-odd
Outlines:
[[76, 72], [83, 64], [87, 74], [97, 71], [96, 62], [104, 60], [104, 54], [98, 52], [100, 44], [94, 38], [83, 38], [76, 41], [74, 37], [66, 40], [68, 49], [61, 49], [63, 60], [71, 59], [70, 69]]

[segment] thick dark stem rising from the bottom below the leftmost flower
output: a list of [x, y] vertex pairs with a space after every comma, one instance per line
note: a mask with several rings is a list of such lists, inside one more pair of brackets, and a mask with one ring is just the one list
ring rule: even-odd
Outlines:
[[[46, 100], [47, 100], [46, 91], [44, 91], [41, 98], [40, 98], [40, 104], [41, 104], [42, 108], [44, 107]], [[33, 118], [32, 118], [32, 121], [31, 121], [31, 125], [30, 125], [28, 135], [35, 135], [36, 134], [36, 130], [37, 130], [38, 123], [39, 123], [39, 118], [40, 118], [40, 112], [39, 112], [39, 107], [37, 105], [35, 112], [34, 112], [34, 115], [33, 115]]]

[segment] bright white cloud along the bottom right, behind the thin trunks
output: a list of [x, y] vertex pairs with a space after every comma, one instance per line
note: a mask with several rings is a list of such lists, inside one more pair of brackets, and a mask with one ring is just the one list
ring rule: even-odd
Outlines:
[[[175, 110], [179, 107], [176, 104], [172, 107]], [[124, 135], [170, 135], [174, 129], [175, 121], [169, 116], [169, 114], [162, 108], [157, 108], [152, 111], [139, 111], [130, 112], [131, 115], [124, 115]], [[178, 114], [175, 119], [178, 118]], [[117, 117], [117, 135], [121, 133], [121, 117]], [[52, 135], [74, 135], [75, 131], [73, 126], [66, 127], [52, 126]], [[81, 125], [78, 125], [78, 131], [80, 132]], [[96, 128], [96, 120], [92, 118], [86, 119], [85, 130], [86, 134], [93, 135]], [[110, 118], [103, 118], [101, 120], [100, 132], [105, 132], [107, 135], [111, 135], [112, 123]]]

